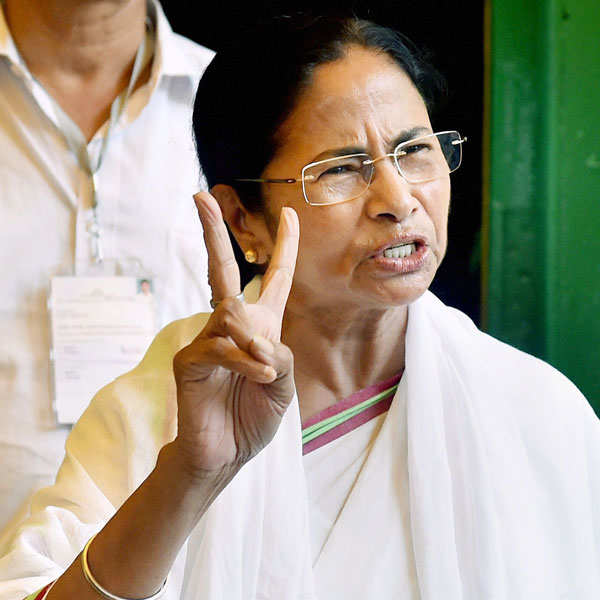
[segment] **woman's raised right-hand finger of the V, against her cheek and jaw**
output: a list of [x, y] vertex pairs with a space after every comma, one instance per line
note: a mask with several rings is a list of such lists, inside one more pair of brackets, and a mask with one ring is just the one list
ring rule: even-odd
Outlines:
[[298, 215], [293, 208], [285, 206], [281, 209], [273, 257], [263, 277], [258, 300], [259, 304], [268, 306], [280, 321], [292, 288], [299, 240]]

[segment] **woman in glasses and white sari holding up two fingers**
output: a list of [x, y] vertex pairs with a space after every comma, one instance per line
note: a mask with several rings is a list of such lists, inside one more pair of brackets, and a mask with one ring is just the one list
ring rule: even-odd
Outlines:
[[[597, 598], [597, 419], [427, 292], [464, 141], [432, 129], [432, 72], [353, 19], [253, 39], [194, 115], [215, 311], [96, 396], [0, 598], [98, 530], [49, 600]], [[266, 268], [245, 301], [223, 219]]]

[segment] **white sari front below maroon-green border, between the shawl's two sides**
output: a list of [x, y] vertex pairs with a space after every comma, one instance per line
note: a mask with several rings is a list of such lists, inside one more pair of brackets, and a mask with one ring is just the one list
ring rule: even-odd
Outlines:
[[403, 379], [389, 412], [304, 456], [319, 598], [419, 598], [406, 433]]

